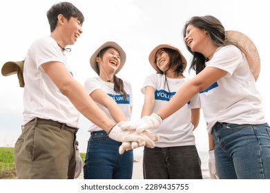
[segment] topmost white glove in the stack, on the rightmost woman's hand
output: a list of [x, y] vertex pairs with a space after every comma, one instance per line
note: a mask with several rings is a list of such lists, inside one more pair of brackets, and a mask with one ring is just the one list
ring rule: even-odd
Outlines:
[[150, 116], [143, 116], [139, 121], [122, 121], [118, 125], [122, 130], [136, 130], [136, 132], [140, 133], [156, 128], [161, 123], [161, 117], [152, 113]]

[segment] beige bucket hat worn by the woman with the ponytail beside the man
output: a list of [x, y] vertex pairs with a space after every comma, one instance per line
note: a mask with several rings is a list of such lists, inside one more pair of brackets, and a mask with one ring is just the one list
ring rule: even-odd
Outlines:
[[124, 63], [126, 62], [126, 53], [121, 48], [121, 46], [118, 45], [117, 43], [115, 43], [114, 41], [107, 41], [106, 43], [102, 44], [99, 48], [97, 48], [97, 50], [94, 52], [94, 54], [92, 54], [92, 56], [90, 57], [90, 65], [91, 65], [91, 68], [93, 68], [93, 70], [98, 73], [98, 70], [97, 70], [98, 65], [97, 65], [97, 61], [95, 59], [101, 50], [103, 50], [104, 48], [108, 48], [108, 47], [115, 48], [115, 50], [117, 50], [119, 52], [121, 62], [120, 62], [119, 67], [115, 71], [115, 74], [117, 74], [123, 68]]

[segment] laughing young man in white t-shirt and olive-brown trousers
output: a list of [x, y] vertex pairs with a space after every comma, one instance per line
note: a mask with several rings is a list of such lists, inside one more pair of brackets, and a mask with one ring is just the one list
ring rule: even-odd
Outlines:
[[73, 79], [64, 51], [83, 32], [83, 14], [72, 3], [61, 2], [47, 17], [51, 34], [32, 43], [23, 66], [24, 128], [15, 144], [17, 178], [74, 179], [79, 112], [115, 141], [154, 145], [146, 135], [120, 130]]

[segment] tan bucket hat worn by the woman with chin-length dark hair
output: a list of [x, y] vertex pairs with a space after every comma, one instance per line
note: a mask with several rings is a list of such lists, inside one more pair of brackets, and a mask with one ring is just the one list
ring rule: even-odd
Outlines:
[[183, 63], [183, 69], [186, 69], [186, 59], [178, 48], [176, 48], [175, 46], [171, 44], [160, 44], [160, 45], [157, 45], [157, 47], [155, 47], [152, 50], [152, 52], [149, 54], [149, 57], [148, 57], [148, 60], [151, 63], [152, 67], [155, 69], [155, 71], [157, 71], [158, 73], [162, 72], [160, 68], [157, 67], [157, 64], [155, 63], [155, 54], [157, 54], [157, 51], [162, 48], [169, 48], [171, 50], [176, 50], [177, 52], [179, 52], [182, 63]]

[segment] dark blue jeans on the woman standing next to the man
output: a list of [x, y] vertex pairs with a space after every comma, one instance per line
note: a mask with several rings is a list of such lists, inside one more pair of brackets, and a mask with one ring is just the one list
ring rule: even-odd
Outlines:
[[133, 150], [119, 154], [121, 142], [104, 131], [92, 132], [84, 164], [84, 179], [131, 179]]

